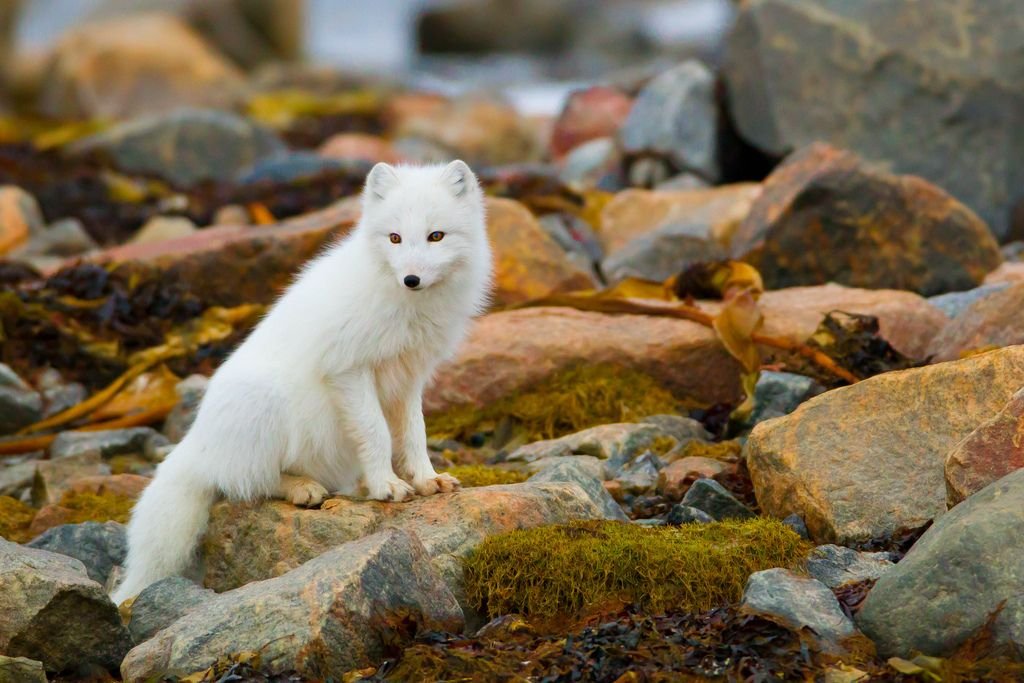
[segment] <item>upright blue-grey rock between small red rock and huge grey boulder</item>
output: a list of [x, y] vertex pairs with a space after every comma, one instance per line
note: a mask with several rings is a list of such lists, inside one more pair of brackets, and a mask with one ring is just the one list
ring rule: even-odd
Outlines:
[[667, 162], [664, 177], [694, 171], [717, 180], [715, 76], [695, 59], [656, 76], [637, 95], [618, 137], [628, 155]]

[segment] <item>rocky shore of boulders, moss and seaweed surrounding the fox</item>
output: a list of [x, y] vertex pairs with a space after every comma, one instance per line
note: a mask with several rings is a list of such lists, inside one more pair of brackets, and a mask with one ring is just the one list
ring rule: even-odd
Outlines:
[[[1024, 680], [1024, 10], [913, 5], [750, 0], [553, 120], [76, 30], [0, 119], [0, 681]], [[207, 377], [373, 163], [456, 157], [465, 488], [219, 502], [114, 605]]]

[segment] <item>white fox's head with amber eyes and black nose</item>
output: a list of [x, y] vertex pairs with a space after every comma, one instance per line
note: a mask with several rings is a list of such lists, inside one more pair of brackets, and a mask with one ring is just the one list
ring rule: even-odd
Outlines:
[[489, 267], [483, 193], [462, 161], [374, 166], [362, 190], [360, 229], [371, 253], [409, 292]]

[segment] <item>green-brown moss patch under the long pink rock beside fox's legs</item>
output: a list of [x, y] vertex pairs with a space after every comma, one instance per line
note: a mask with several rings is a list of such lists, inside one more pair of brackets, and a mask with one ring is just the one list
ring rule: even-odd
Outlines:
[[485, 409], [456, 408], [427, 419], [433, 438], [467, 440], [492, 432], [503, 419], [512, 420], [536, 441], [571, 434], [613, 422], [636, 422], [689, 405], [651, 377], [615, 366], [580, 366], [534, 387], [506, 396]]

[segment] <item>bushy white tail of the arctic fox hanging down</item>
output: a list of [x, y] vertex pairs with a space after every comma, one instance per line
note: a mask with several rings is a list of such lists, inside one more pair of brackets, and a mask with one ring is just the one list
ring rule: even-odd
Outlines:
[[180, 461], [172, 460], [160, 466], [132, 510], [125, 578], [111, 596], [115, 604], [138, 595], [150, 584], [184, 571], [206, 530], [216, 490], [196, 481], [177, 466]]

